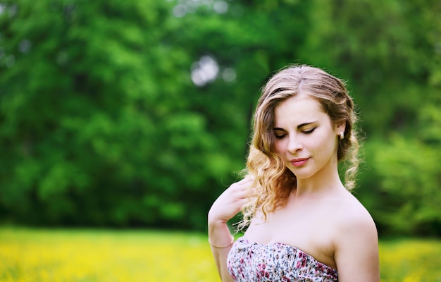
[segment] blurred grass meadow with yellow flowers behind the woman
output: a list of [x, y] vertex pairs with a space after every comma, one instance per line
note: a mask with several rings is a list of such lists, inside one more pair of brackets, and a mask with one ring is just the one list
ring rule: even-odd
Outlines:
[[[441, 281], [441, 241], [380, 242], [382, 281]], [[0, 228], [0, 281], [220, 281], [206, 235]]]

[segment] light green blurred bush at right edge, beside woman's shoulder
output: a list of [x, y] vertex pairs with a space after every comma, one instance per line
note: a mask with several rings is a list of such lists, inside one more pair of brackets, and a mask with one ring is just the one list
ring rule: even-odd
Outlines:
[[380, 219], [395, 232], [436, 234], [441, 227], [438, 191], [440, 147], [394, 135], [384, 151], [374, 153], [383, 192], [390, 199]]

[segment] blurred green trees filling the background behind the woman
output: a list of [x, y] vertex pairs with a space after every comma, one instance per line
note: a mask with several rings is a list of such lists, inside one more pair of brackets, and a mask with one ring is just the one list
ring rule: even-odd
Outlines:
[[206, 231], [273, 71], [345, 80], [380, 237], [441, 237], [441, 1], [0, 1], [0, 224]]

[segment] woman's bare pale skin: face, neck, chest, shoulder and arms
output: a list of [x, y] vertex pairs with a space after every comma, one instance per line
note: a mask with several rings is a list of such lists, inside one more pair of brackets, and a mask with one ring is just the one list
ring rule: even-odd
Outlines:
[[[284, 206], [251, 221], [244, 238], [284, 243], [336, 269], [340, 282], [380, 281], [378, 236], [363, 205], [348, 192], [337, 172], [337, 142], [345, 123], [333, 123], [321, 105], [306, 94], [275, 107], [275, 147], [297, 177]], [[247, 203], [252, 180], [233, 183], [209, 212], [209, 238], [230, 243], [226, 222]], [[231, 246], [211, 247], [222, 281], [233, 281], [226, 261]]]

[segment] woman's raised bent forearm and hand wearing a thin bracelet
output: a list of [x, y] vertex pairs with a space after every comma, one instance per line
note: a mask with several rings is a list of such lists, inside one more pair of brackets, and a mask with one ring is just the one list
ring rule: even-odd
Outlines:
[[233, 281], [227, 269], [227, 257], [233, 243], [233, 237], [227, 221], [235, 216], [244, 204], [247, 204], [247, 188], [253, 181], [244, 178], [233, 183], [213, 203], [209, 211], [209, 242], [221, 280]]

